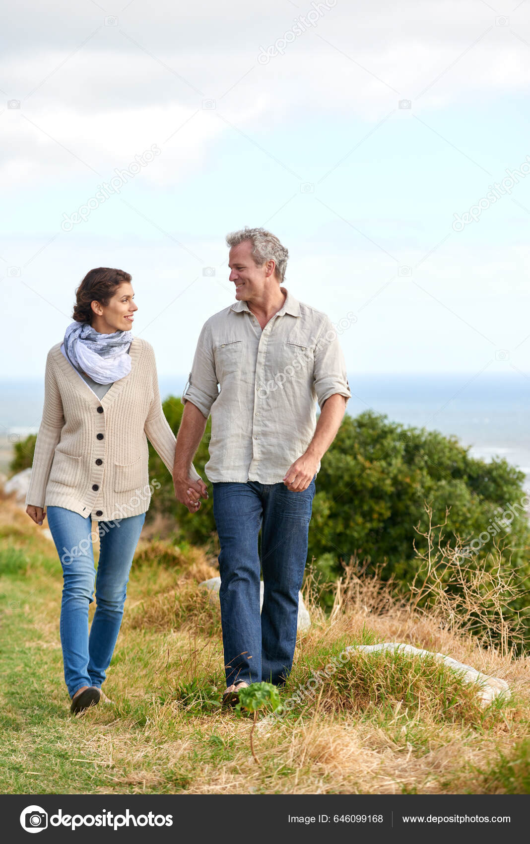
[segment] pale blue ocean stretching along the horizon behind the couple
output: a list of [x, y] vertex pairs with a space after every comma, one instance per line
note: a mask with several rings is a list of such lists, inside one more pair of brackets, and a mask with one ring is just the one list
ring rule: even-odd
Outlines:
[[[160, 378], [160, 394], [180, 395], [186, 376]], [[473, 457], [505, 457], [530, 484], [530, 379], [520, 373], [349, 374], [348, 413], [371, 408], [403, 425], [440, 430], [472, 446]], [[39, 381], [0, 381], [0, 469], [7, 469], [12, 443], [41, 422], [44, 386]]]

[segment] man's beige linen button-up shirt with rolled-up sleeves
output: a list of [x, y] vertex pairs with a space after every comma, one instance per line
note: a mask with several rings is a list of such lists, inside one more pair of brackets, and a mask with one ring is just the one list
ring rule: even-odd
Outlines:
[[204, 471], [213, 483], [280, 483], [311, 442], [316, 402], [351, 397], [332, 322], [280, 289], [284, 305], [263, 330], [239, 300], [199, 336], [181, 401], [212, 415]]

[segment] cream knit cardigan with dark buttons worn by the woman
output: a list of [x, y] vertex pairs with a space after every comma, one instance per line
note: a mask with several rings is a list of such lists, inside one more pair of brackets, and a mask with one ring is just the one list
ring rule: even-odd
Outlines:
[[[61, 344], [50, 349], [26, 505], [65, 507], [105, 522], [149, 509], [146, 435], [170, 472], [176, 440], [162, 411], [153, 347], [134, 337], [129, 354], [131, 371], [100, 399]], [[190, 477], [200, 477], [193, 465]]]

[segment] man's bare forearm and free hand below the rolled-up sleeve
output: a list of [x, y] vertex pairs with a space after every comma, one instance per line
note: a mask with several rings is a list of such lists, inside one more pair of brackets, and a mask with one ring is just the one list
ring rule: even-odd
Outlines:
[[345, 410], [346, 398], [340, 393], [335, 393], [326, 399], [309, 446], [289, 467], [284, 477], [284, 484], [288, 490], [301, 492], [311, 484], [319, 461], [337, 436]]

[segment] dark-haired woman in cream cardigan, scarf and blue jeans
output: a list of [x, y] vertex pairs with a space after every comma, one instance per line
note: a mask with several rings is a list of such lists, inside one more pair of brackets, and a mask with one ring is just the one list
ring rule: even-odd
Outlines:
[[[100, 701], [122, 624], [129, 570], [149, 508], [146, 435], [172, 472], [175, 436], [165, 419], [152, 346], [131, 331], [131, 276], [92, 269], [76, 290], [74, 322], [46, 360], [42, 422], [26, 512], [48, 524], [63, 573], [64, 679], [80, 712]], [[206, 486], [190, 466], [186, 505]], [[160, 488], [160, 484], [159, 484]], [[100, 559], [95, 577], [92, 520]], [[89, 603], [97, 608], [89, 633]]]

